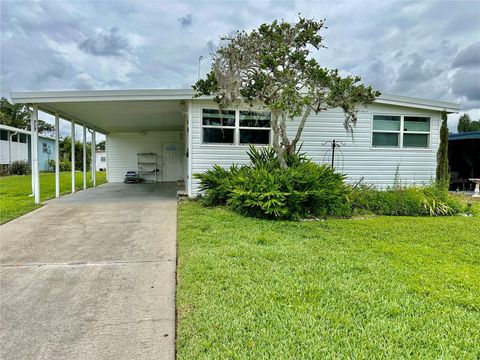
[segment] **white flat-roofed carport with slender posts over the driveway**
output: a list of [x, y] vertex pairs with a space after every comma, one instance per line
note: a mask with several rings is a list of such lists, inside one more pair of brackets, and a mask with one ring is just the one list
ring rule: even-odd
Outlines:
[[[35, 203], [40, 202], [38, 168], [38, 111], [55, 116], [56, 197], [59, 185], [59, 119], [71, 123], [75, 142], [75, 124], [83, 129], [83, 182], [86, 187], [86, 133], [95, 143], [98, 132], [106, 135], [107, 181], [121, 182], [129, 170], [140, 168], [139, 154], [155, 154], [145, 172], [160, 174], [159, 182], [183, 180], [188, 184], [188, 116], [193, 91], [183, 90], [107, 90], [14, 92], [14, 103], [31, 108], [32, 190]], [[72, 164], [75, 154], [71, 155]], [[144, 160], [145, 161], [145, 160]], [[92, 146], [95, 168], [95, 146]], [[139, 170], [140, 171], [140, 170]], [[92, 172], [96, 185], [95, 172]], [[72, 167], [72, 193], [75, 192], [75, 169]]]

